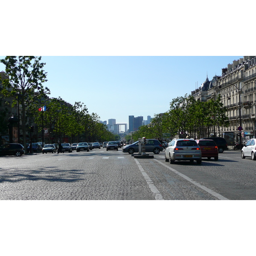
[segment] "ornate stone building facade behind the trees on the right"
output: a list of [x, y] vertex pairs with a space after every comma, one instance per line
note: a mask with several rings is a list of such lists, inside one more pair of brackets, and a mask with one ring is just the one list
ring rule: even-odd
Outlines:
[[221, 101], [227, 108], [229, 127], [220, 128], [216, 134], [215, 127], [212, 127], [211, 133], [215, 136], [225, 137], [228, 134], [233, 136], [234, 142], [240, 136], [243, 141], [256, 137], [256, 56], [244, 56], [227, 64], [221, 76], [214, 76], [211, 81], [207, 77], [191, 94], [202, 102], [221, 95]]

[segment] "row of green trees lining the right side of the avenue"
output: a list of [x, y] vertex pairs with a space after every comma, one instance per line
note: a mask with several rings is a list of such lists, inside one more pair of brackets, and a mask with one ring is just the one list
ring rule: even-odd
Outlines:
[[169, 134], [172, 139], [178, 137], [206, 137], [210, 128], [220, 132], [220, 128], [228, 127], [229, 119], [226, 108], [221, 102], [221, 96], [207, 102], [196, 101], [191, 95], [177, 97], [170, 103], [169, 111], [156, 114], [150, 125], [143, 125], [132, 134], [133, 140], [138, 138], [165, 139], [163, 134]]

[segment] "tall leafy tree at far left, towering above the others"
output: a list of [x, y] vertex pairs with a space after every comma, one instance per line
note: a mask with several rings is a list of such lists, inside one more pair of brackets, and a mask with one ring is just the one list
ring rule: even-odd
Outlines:
[[[21, 122], [23, 133], [23, 144], [26, 150], [26, 111], [33, 102], [38, 98], [46, 96], [50, 93], [47, 87], [43, 87], [43, 83], [47, 81], [47, 73], [43, 67], [45, 63], [40, 62], [41, 57], [35, 56], [6, 56], [0, 62], [6, 66], [6, 76], [3, 79], [2, 93], [5, 96], [14, 97], [13, 105], [17, 101], [21, 105]], [[38, 93], [35, 94], [35, 90]]]

